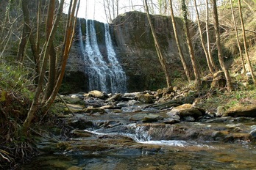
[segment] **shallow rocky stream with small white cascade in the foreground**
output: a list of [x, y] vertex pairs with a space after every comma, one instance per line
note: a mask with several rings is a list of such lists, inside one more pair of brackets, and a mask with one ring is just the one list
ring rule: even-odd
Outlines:
[[[71, 136], [41, 138], [41, 154], [21, 169], [256, 169], [256, 143], [249, 137], [255, 118], [166, 124], [169, 110], [146, 104], [104, 110], [62, 118]], [[149, 114], [157, 120], [141, 121]]]

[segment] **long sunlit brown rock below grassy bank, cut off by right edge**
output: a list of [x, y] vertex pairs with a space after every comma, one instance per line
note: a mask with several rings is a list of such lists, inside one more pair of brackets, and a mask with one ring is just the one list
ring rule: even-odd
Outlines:
[[256, 117], [256, 106], [234, 106], [227, 109], [224, 117]]

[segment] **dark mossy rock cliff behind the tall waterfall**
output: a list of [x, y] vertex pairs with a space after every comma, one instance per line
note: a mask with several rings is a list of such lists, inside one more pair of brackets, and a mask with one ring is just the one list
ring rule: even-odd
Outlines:
[[[171, 18], [152, 15], [152, 21], [161, 48], [163, 48], [164, 56], [166, 56], [168, 61], [168, 69], [170, 70], [171, 77], [182, 78], [184, 73], [174, 38]], [[182, 32], [182, 20], [176, 18], [176, 21], [182, 50], [185, 57], [188, 59], [185, 34]], [[85, 19], [77, 21], [77, 23], [79, 22], [81, 22], [83, 32], [82, 37], [86, 38]], [[95, 21], [95, 27], [100, 51], [103, 56], [106, 56], [104, 23]], [[79, 24], [77, 24], [77, 30], [78, 29]], [[166, 86], [164, 73], [154, 48], [152, 32], [145, 13], [127, 12], [124, 15], [119, 15], [115, 18], [113, 23], [110, 24], [110, 34], [113, 39], [113, 45], [118, 60], [127, 75], [127, 89], [129, 92], [158, 89]], [[76, 84], [77, 87], [79, 86], [79, 90], [87, 91], [88, 78], [84, 73], [86, 66], [81, 56], [79, 36], [77, 33], [76, 41], [74, 42], [70, 58], [68, 59], [64, 82]], [[189, 62], [188, 65], [190, 65]]]

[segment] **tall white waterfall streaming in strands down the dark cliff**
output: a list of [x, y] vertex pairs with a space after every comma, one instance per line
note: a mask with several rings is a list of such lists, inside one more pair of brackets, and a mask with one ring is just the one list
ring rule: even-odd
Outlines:
[[88, 75], [88, 90], [126, 92], [126, 75], [116, 59], [108, 24], [105, 24], [104, 27], [107, 61], [104, 61], [104, 57], [99, 51], [94, 22], [86, 20], [84, 43], [79, 20], [79, 45], [85, 62], [85, 74]]

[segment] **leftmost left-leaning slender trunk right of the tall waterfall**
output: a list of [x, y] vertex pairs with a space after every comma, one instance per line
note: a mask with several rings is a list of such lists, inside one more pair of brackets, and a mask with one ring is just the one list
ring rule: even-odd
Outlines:
[[149, 25], [150, 25], [150, 28], [151, 28], [151, 31], [152, 31], [152, 36], [154, 38], [154, 45], [155, 45], [155, 48], [156, 48], [156, 51], [157, 51], [157, 56], [158, 56], [158, 58], [160, 60], [160, 64], [163, 67], [163, 72], [166, 75], [166, 84], [167, 84], [168, 87], [170, 87], [171, 86], [171, 78], [170, 78], [170, 75], [168, 73], [168, 69], [166, 67], [166, 59], [163, 56], [163, 53], [161, 51], [159, 42], [157, 40], [157, 34], [154, 31], [154, 26], [153, 26], [152, 20], [151, 20], [150, 15], [149, 15], [149, 7], [148, 7], [148, 4], [147, 4], [147, 1], [143, 0], [143, 2], [144, 2], [145, 10], [146, 10], [146, 15], [147, 15], [147, 18], [149, 20]]

